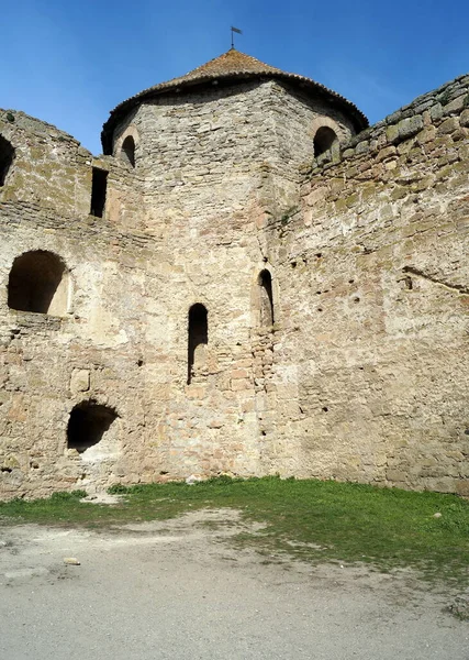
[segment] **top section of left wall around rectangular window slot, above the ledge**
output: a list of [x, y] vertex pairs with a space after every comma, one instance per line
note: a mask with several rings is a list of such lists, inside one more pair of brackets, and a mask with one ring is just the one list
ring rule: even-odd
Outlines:
[[0, 110], [0, 134], [14, 148], [0, 187], [1, 204], [29, 206], [64, 219], [88, 217], [92, 167], [97, 167], [109, 170], [105, 220], [139, 228], [141, 182], [121, 161], [94, 158], [71, 135], [13, 110]]

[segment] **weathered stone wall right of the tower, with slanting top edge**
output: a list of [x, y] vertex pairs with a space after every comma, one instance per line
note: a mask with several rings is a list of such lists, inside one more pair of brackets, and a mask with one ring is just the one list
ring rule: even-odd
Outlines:
[[271, 465], [469, 493], [469, 77], [313, 163], [272, 232]]

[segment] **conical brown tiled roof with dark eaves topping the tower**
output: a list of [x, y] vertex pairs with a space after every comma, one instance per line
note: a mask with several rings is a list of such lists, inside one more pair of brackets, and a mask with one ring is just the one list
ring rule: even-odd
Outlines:
[[326, 98], [333, 106], [338, 106], [353, 120], [357, 131], [361, 131], [368, 125], [368, 120], [358, 110], [354, 103], [338, 95], [337, 92], [324, 87], [320, 82], [315, 82], [311, 78], [299, 76], [297, 74], [288, 74], [279, 68], [264, 64], [260, 59], [246, 55], [231, 48], [223, 55], [214, 57], [206, 64], [202, 64], [185, 76], [172, 78], [167, 82], [159, 82], [154, 87], [148, 87], [136, 94], [130, 99], [123, 101], [114, 110], [111, 111], [110, 118], [105, 122], [102, 131], [102, 144], [104, 154], [112, 152], [112, 131], [115, 124], [123, 118], [132, 108], [138, 106], [144, 100], [150, 99], [154, 96], [159, 96], [166, 91], [182, 91], [196, 85], [213, 82], [214, 80], [245, 80], [257, 77], [278, 78], [301, 86], [304, 91], [310, 91], [314, 96]]

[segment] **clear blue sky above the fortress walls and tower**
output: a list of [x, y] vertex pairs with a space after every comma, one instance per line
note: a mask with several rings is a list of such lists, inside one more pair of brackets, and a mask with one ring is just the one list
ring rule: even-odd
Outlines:
[[94, 154], [109, 111], [230, 47], [311, 77], [373, 123], [469, 72], [469, 2], [16, 0], [3, 3], [0, 107]]

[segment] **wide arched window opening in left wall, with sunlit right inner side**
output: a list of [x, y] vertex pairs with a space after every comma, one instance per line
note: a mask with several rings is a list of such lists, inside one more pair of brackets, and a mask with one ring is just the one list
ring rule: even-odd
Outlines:
[[52, 252], [25, 252], [13, 262], [8, 282], [8, 306], [20, 311], [64, 316], [68, 302], [68, 272]]

